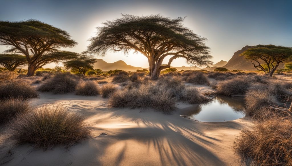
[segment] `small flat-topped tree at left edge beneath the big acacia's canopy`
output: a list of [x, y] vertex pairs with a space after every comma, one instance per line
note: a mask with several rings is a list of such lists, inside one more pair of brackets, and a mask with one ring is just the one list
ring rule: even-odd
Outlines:
[[0, 65], [10, 71], [14, 71], [17, 67], [26, 65], [27, 60], [23, 55], [18, 54], [0, 54]]

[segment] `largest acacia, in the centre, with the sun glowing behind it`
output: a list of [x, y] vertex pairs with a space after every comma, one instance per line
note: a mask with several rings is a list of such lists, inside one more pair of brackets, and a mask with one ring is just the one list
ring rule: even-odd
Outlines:
[[[90, 39], [86, 53], [104, 56], [107, 51], [130, 50], [147, 57], [149, 75], [158, 78], [161, 70], [169, 68], [175, 58], [185, 58], [187, 63], [208, 65], [212, 62], [206, 38], [201, 38], [186, 28], [184, 18], [171, 19], [161, 15], [133, 16], [107, 21], [98, 27], [97, 36]], [[169, 57], [167, 64], [162, 64]]]

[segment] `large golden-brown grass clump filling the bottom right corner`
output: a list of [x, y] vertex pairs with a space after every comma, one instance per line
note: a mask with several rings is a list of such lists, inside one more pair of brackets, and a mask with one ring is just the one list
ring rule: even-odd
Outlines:
[[242, 130], [234, 144], [246, 165], [292, 165], [292, 120], [258, 122]]

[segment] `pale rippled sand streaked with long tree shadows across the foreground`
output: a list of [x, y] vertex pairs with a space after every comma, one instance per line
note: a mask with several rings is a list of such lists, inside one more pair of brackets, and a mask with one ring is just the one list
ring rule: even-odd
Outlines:
[[173, 115], [164, 115], [152, 110], [107, 108], [107, 99], [100, 96], [40, 93], [31, 102], [35, 106], [61, 104], [85, 115], [93, 134], [68, 149], [47, 151], [32, 145], [4, 146], [2, 142], [0, 165], [240, 165], [233, 142], [243, 128], [252, 125], [249, 117], [230, 122], [183, 118], [180, 115], [184, 108], [190, 106], [185, 103], [178, 103]]

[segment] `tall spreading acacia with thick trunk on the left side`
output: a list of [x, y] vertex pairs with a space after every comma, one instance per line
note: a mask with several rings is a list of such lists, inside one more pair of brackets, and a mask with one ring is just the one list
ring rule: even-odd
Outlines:
[[77, 43], [70, 35], [59, 28], [38, 20], [20, 22], [0, 21], [0, 45], [10, 49], [6, 53], [22, 53], [28, 62], [28, 76], [34, 75], [43, 66], [44, 55], [61, 47], [73, 47]]

